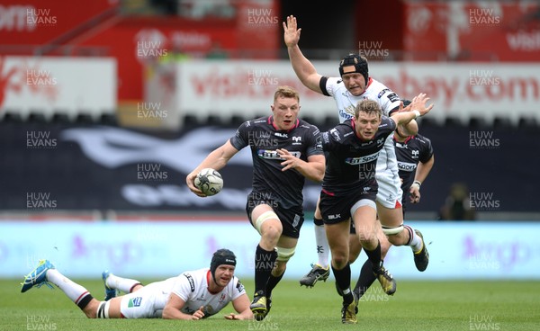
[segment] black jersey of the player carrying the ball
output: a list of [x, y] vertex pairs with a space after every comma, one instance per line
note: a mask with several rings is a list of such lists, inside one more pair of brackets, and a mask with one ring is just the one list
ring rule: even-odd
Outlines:
[[293, 156], [307, 162], [308, 157], [323, 154], [320, 130], [300, 119], [292, 130], [276, 130], [273, 120], [274, 117], [270, 116], [246, 121], [229, 141], [238, 150], [247, 146], [251, 148], [253, 192], [258, 192], [264, 199], [279, 202], [286, 209], [302, 208], [305, 177], [295, 169], [282, 171], [284, 159], [279, 157], [276, 149], [287, 149]]

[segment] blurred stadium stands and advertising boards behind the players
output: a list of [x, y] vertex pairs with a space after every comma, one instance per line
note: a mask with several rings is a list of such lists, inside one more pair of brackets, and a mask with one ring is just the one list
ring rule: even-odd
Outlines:
[[[540, 279], [540, 8], [534, 1], [4, 0], [0, 4], [0, 277], [40, 258], [76, 277], [105, 268], [167, 276], [213, 250], [240, 256], [252, 277], [257, 232], [246, 220], [250, 159], [222, 170], [224, 191], [200, 199], [184, 177], [244, 120], [267, 114], [277, 85], [302, 92], [302, 118], [322, 130], [331, 98], [300, 85], [282, 22], [302, 27], [301, 49], [323, 75], [361, 52], [397, 94], [436, 103], [420, 121], [436, 164], [407, 219], [432, 261], [409, 250], [387, 265], [400, 279]], [[439, 219], [465, 183], [473, 220]], [[306, 221], [286, 277], [315, 258]]]

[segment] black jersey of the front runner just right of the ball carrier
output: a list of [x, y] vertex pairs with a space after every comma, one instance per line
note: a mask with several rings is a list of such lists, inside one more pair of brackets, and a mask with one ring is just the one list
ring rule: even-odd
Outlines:
[[338, 124], [322, 133], [322, 148], [326, 171], [322, 189], [330, 195], [347, 195], [362, 186], [377, 187], [375, 169], [384, 141], [396, 130], [396, 123], [383, 116], [374, 139], [361, 140], [356, 136], [355, 121]]

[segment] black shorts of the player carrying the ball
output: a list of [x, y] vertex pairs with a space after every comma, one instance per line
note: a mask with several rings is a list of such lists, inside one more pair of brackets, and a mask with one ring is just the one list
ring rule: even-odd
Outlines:
[[281, 221], [282, 227], [284, 228], [282, 236], [293, 237], [295, 239], [298, 239], [298, 237], [300, 237], [300, 228], [302, 228], [302, 224], [304, 221], [302, 206], [285, 209], [279, 203], [279, 201], [276, 201], [275, 199], [265, 199], [265, 194], [251, 192], [247, 195], [246, 212], [247, 219], [249, 219], [252, 226], [253, 219], [251, 219], [251, 212], [259, 204], [267, 204], [268, 206], [272, 207], [275, 214]]

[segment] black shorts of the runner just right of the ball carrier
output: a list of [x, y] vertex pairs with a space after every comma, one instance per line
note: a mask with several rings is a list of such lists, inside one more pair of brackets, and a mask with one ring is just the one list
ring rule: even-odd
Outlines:
[[[324, 190], [320, 192], [320, 213], [324, 224], [337, 224], [351, 218], [351, 207], [363, 199], [375, 201], [377, 198], [376, 186], [370, 186], [370, 190], [356, 190], [347, 195], [329, 195]], [[351, 220], [352, 223], [352, 220]], [[351, 233], [355, 233], [353, 228]]]

